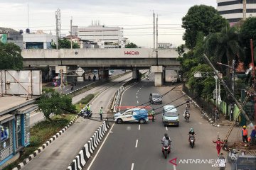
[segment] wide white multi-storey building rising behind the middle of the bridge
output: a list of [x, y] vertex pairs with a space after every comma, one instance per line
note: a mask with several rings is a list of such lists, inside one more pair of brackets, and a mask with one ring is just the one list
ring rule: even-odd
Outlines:
[[73, 26], [73, 31], [73, 35], [78, 35], [81, 40], [97, 42], [100, 48], [123, 48], [127, 41], [123, 28], [107, 27], [100, 23], [85, 28]]

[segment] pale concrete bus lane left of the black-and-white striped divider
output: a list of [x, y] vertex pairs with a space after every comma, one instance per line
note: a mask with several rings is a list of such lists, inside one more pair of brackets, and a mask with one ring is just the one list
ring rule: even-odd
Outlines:
[[[112, 88], [107, 89], [107, 84], [99, 86], [95, 89], [85, 92], [79, 96], [73, 98], [73, 103], [77, 103], [81, 98], [88, 94], [95, 93], [97, 91], [102, 92], [100, 96], [92, 101], [92, 112], [98, 113], [100, 107], [103, 106], [104, 113], [106, 113], [108, 105], [110, 104], [110, 97], [117, 91], [121, 83], [117, 83], [121, 79], [126, 79], [131, 75], [125, 75], [115, 81], [115, 85]], [[107, 98], [107, 100], [106, 100]], [[92, 114], [93, 117], [99, 117], [97, 114]], [[105, 115], [103, 115], [103, 118]], [[27, 170], [63, 170], [67, 169], [68, 165], [73, 161], [83, 145], [90, 139], [95, 130], [102, 124], [99, 121], [88, 120], [84, 118], [78, 118], [78, 120], [63, 134], [58, 137], [55, 142], [52, 142], [43, 152], [38, 154], [31, 162], [28, 162], [22, 169]]]

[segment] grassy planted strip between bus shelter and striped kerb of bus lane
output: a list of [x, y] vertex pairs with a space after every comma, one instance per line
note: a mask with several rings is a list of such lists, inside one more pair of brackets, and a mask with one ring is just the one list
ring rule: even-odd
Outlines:
[[23, 148], [23, 154], [15, 162], [6, 166], [3, 170], [11, 170], [19, 163], [23, 162], [30, 154], [41, 147], [43, 143], [50, 139], [53, 135], [59, 132], [65, 125], [68, 125], [71, 120], [75, 118], [75, 114], [66, 114], [65, 117], [61, 115], [55, 115], [52, 117], [53, 121], [43, 120], [31, 128], [30, 145]]

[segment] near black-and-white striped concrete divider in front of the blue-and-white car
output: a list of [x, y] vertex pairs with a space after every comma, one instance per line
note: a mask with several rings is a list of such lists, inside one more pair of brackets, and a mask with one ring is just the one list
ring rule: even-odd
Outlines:
[[100, 128], [95, 131], [90, 140], [88, 140], [75, 159], [73, 159], [73, 162], [71, 162], [67, 170], [81, 170], [85, 166], [86, 162], [88, 162], [92, 156], [92, 153], [97, 146], [100, 145], [100, 141], [103, 139], [108, 128], [110, 128], [109, 122], [108, 120], [104, 120], [102, 125], [100, 125]]

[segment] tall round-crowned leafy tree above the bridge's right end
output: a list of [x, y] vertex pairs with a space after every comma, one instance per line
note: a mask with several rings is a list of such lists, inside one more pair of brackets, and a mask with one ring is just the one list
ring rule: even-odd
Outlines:
[[196, 46], [196, 38], [199, 32], [203, 36], [210, 33], [216, 33], [224, 26], [228, 26], [228, 21], [225, 20], [213, 6], [196, 5], [189, 8], [186, 16], [182, 18], [182, 27], [185, 28], [183, 40], [186, 46], [193, 50]]

